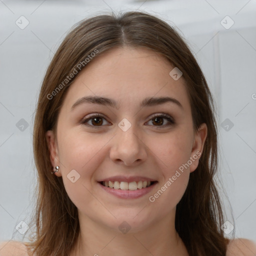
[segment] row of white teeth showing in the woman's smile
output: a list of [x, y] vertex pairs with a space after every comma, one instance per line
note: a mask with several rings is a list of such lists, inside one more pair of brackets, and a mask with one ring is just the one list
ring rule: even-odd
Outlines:
[[114, 189], [122, 189], [122, 190], [136, 190], [141, 189], [149, 186], [151, 181], [132, 181], [132, 182], [125, 182], [125, 181], [102, 181], [102, 185]]

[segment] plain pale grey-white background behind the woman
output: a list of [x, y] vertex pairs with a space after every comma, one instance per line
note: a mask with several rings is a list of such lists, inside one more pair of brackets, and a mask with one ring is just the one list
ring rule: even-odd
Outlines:
[[[235, 236], [256, 240], [256, 0], [0, 0], [0, 240], [21, 239], [15, 226], [33, 208], [33, 116], [53, 52], [75, 22], [111, 9], [145, 10], [185, 37], [217, 105], [226, 220], [233, 223], [225, 193]], [[24, 29], [15, 24], [21, 15]]]

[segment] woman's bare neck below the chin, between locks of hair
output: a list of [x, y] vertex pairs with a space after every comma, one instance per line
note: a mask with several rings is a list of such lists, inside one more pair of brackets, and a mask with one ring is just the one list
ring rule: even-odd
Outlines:
[[121, 233], [88, 218], [79, 218], [80, 232], [70, 256], [188, 256], [174, 227], [174, 218], [165, 217], [141, 231]]

